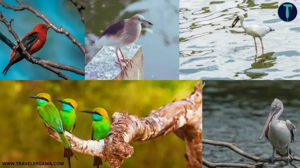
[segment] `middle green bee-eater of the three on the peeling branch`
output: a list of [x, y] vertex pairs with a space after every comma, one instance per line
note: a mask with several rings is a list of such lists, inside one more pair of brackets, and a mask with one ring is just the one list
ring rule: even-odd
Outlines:
[[[76, 125], [76, 109], [77, 103], [73, 99], [53, 99], [62, 103], [62, 109], [59, 112], [62, 127], [67, 132], [73, 133]], [[73, 156], [73, 152], [70, 148], [64, 148], [64, 157], [68, 159], [69, 168], [71, 168], [70, 157]]]

